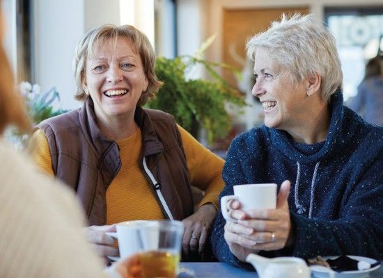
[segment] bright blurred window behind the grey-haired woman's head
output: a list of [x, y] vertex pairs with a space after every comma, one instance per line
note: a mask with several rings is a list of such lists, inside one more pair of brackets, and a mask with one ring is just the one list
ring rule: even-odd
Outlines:
[[366, 60], [377, 56], [383, 35], [383, 6], [325, 8], [325, 22], [334, 33], [343, 70], [345, 101], [357, 94]]

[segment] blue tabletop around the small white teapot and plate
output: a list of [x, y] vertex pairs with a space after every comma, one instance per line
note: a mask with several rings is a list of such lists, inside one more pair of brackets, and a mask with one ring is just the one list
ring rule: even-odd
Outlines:
[[[181, 263], [180, 266], [181, 268], [190, 268], [194, 270], [196, 278], [258, 278], [256, 272], [249, 272], [240, 268], [235, 268], [227, 263]], [[191, 276], [185, 276], [185, 278], [186, 277], [192, 278]], [[370, 278], [378, 277], [383, 277], [382, 265], [380, 265], [380, 268], [370, 273]]]

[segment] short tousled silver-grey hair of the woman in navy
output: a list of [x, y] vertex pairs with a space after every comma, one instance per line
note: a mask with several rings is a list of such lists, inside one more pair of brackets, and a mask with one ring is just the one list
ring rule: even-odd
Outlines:
[[322, 77], [322, 97], [328, 101], [337, 89], [342, 89], [341, 60], [331, 31], [313, 15], [282, 15], [267, 31], [258, 33], [247, 42], [247, 56], [253, 59], [260, 47], [267, 49], [282, 70], [290, 72], [293, 83], [312, 74]]

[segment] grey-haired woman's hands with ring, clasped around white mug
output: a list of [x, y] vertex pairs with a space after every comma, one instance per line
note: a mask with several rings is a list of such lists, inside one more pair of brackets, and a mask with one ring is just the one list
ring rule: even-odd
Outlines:
[[250, 253], [279, 250], [286, 246], [291, 230], [289, 192], [290, 181], [283, 181], [276, 198], [276, 209], [244, 212], [239, 209], [240, 202], [235, 200], [228, 204], [230, 215], [237, 223], [226, 222], [224, 237], [230, 251], [240, 261], [245, 261]]

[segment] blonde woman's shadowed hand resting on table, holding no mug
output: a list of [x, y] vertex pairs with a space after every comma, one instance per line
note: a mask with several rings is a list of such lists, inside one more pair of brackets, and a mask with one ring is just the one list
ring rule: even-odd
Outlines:
[[201, 254], [205, 247], [208, 234], [217, 214], [217, 208], [214, 204], [204, 204], [188, 218], [182, 220], [185, 226], [184, 236], [182, 238], [182, 250], [187, 256], [190, 252]]

